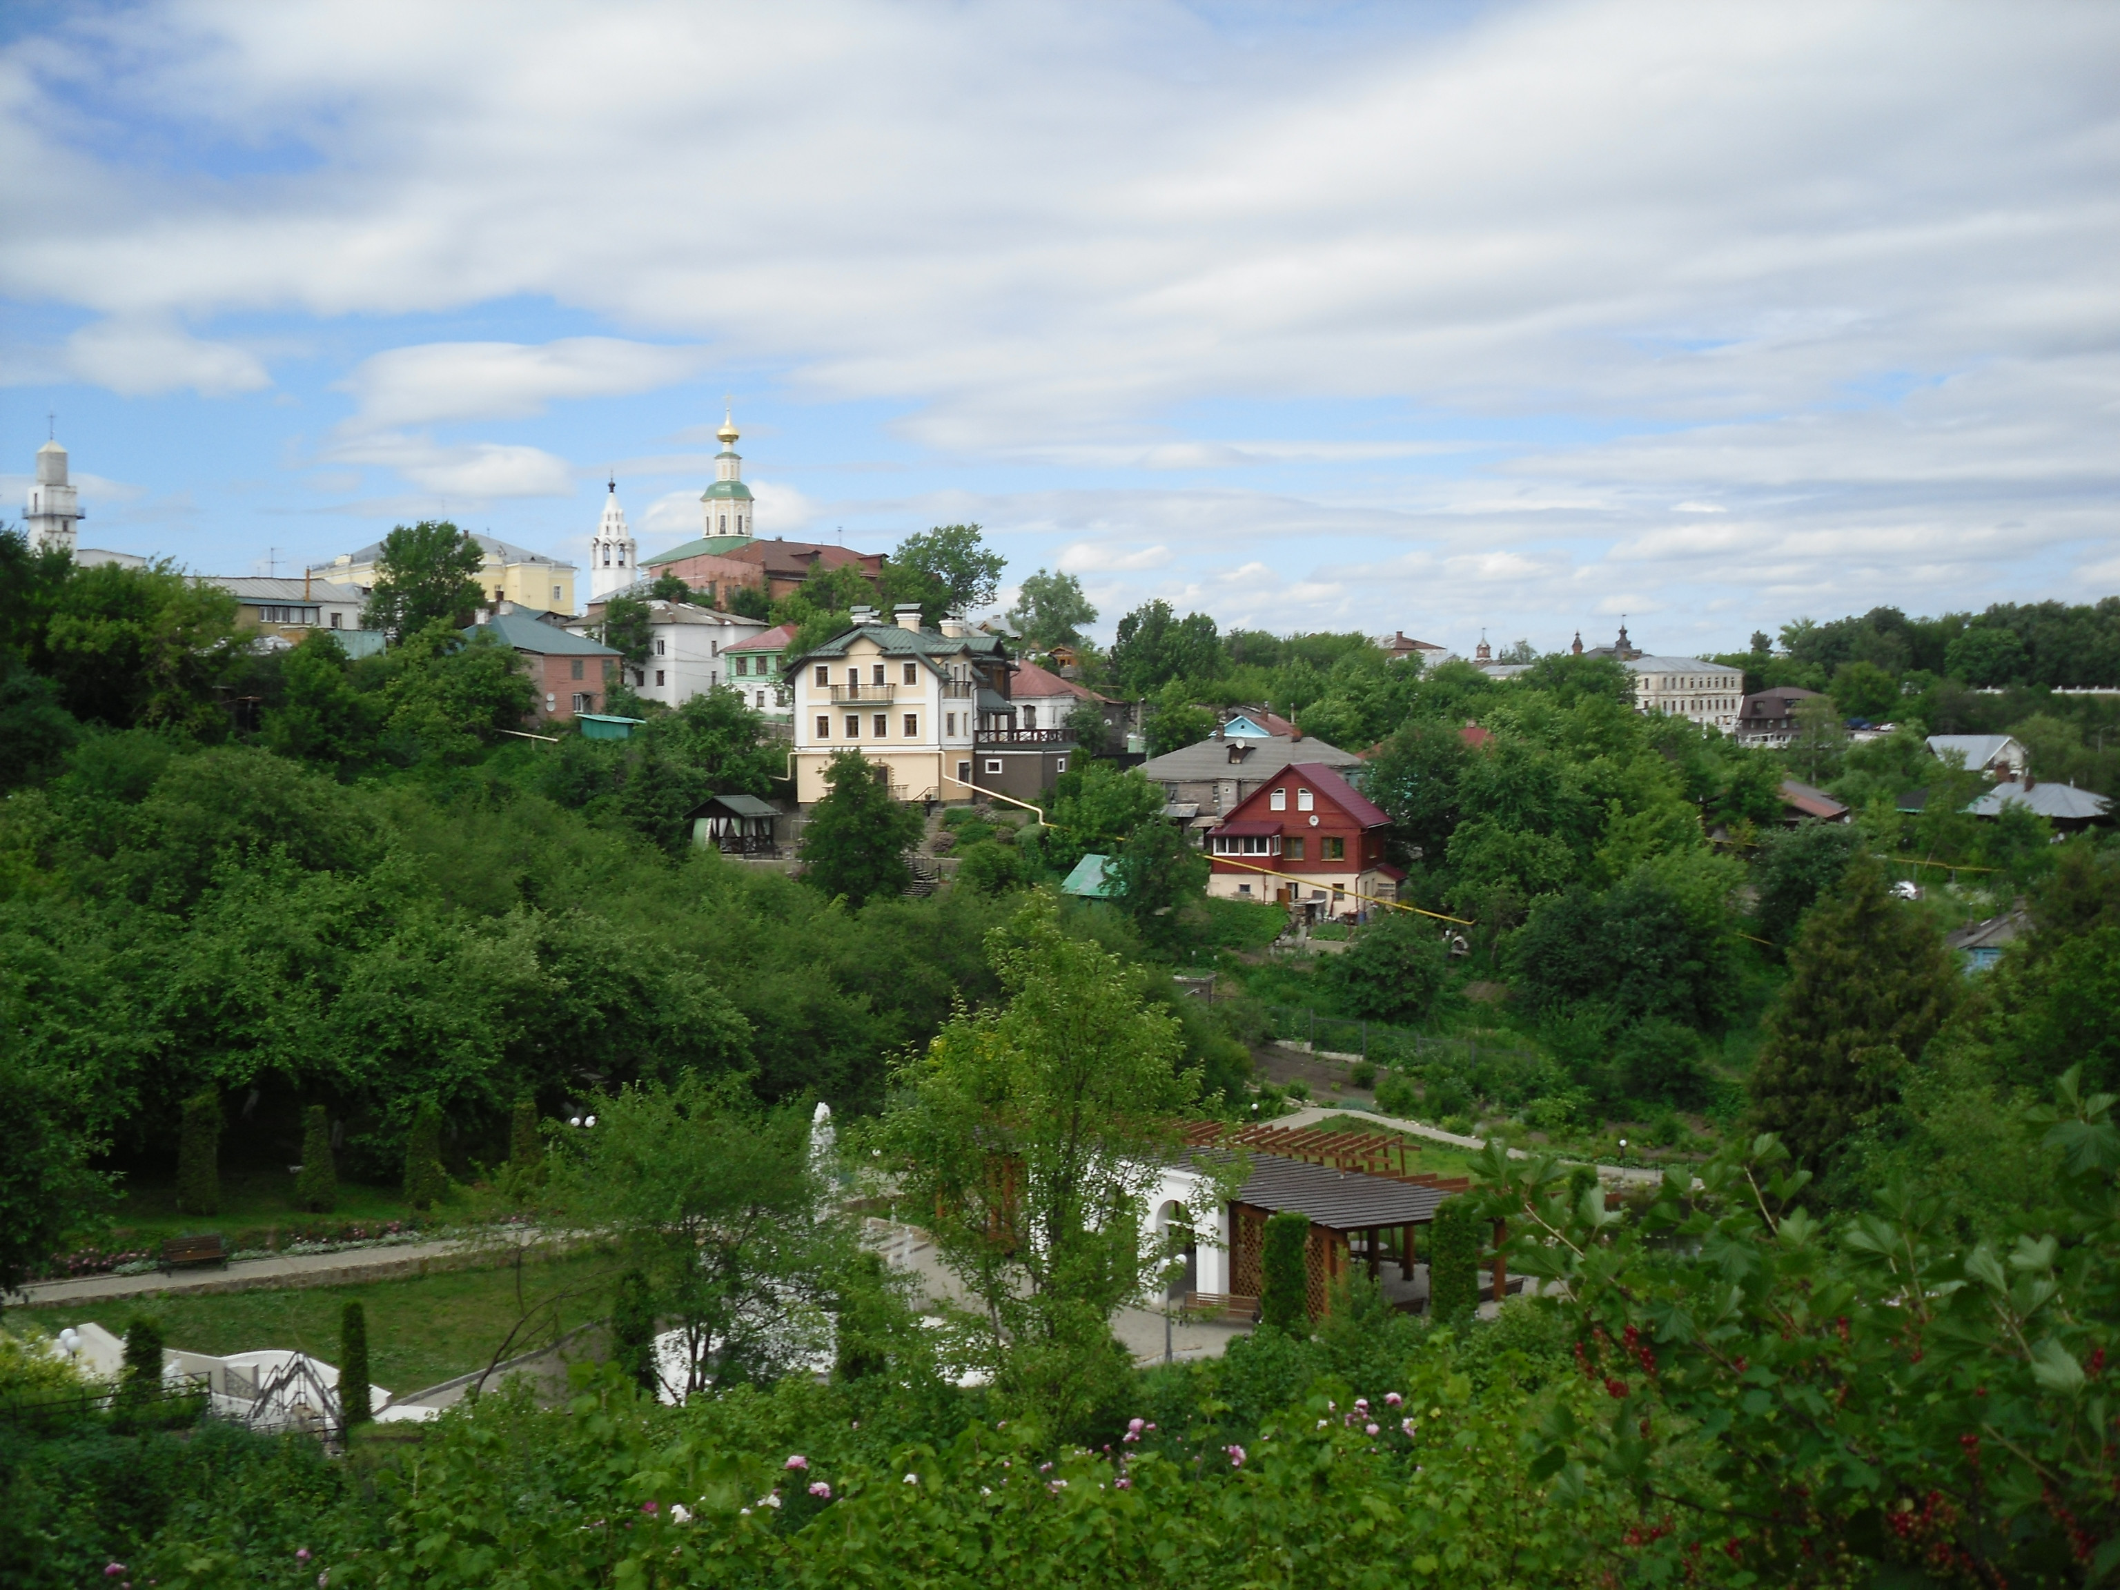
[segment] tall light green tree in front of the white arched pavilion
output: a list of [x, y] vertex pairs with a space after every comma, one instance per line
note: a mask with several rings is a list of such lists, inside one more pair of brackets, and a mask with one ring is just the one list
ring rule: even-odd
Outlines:
[[941, 1264], [977, 1300], [996, 1386], [1075, 1431], [1130, 1380], [1111, 1317], [1162, 1274], [1141, 1221], [1200, 1088], [1177, 1018], [1060, 933], [1035, 895], [990, 935], [1007, 1003], [958, 1011], [899, 1073], [882, 1143]]

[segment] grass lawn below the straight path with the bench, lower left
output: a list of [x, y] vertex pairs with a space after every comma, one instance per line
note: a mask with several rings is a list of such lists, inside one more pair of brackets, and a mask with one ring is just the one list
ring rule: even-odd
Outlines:
[[[522, 1295], [534, 1306], [558, 1291], [575, 1291], [577, 1295], [560, 1304], [558, 1329], [568, 1331], [608, 1312], [611, 1280], [617, 1270], [619, 1261], [608, 1253], [532, 1259], [522, 1268]], [[174, 1293], [11, 1308], [8, 1317], [28, 1317], [47, 1331], [93, 1319], [104, 1329], [123, 1333], [136, 1314], [155, 1314], [163, 1325], [163, 1340], [191, 1353], [223, 1355], [286, 1346], [337, 1363], [339, 1310], [356, 1300], [369, 1314], [369, 1374], [375, 1384], [401, 1395], [483, 1367], [522, 1317], [513, 1266], [447, 1270], [405, 1280], [363, 1280], [346, 1287]], [[551, 1336], [553, 1329], [547, 1325], [519, 1350]]]

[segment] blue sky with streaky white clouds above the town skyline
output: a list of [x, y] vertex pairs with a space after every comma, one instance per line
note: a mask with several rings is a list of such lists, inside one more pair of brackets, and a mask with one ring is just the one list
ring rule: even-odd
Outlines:
[[729, 401], [1107, 638], [2120, 591], [2114, 4], [11, 0], [0, 195], [4, 511], [208, 575], [653, 553]]

